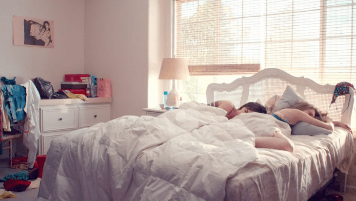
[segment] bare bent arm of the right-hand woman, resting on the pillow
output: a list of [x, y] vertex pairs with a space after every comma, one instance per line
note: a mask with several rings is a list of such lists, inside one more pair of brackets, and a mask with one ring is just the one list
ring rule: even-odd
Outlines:
[[292, 125], [295, 125], [299, 121], [305, 121], [310, 124], [326, 128], [330, 131], [334, 131], [334, 123], [333, 120], [330, 118], [326, 118], [326, 122], [323, 122], [307, 115], [303, 111], [292, 108], [281, 109], [278, 112], [282, 113]]

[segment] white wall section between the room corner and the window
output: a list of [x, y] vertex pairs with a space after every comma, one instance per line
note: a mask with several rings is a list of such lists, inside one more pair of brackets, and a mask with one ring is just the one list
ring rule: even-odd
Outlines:
[[111, 80], [112, 119], [162, 101], [169, 20], [170, 0], [85, 0], [85, 73]]

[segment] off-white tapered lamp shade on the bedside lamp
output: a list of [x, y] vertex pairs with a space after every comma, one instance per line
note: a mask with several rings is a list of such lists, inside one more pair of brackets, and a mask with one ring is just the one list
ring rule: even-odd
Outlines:
[[159, 80], [187, 80], [189, 69], [184, 58], [164, 58], [162, 60]]

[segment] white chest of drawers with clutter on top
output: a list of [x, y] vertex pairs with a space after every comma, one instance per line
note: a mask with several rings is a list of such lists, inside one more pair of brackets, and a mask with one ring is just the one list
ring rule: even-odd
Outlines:
[[39, 155], [54, 138], [99, 122], [110, 121], [111, 98], [48, 99], [40, 101]]

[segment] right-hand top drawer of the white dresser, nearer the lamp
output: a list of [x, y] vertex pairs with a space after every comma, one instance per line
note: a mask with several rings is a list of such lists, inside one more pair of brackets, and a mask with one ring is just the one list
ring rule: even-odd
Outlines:
[[79, 128], [110, 121], [110, 105], [79, 106]]

